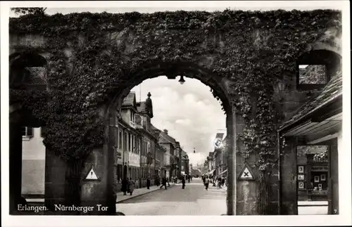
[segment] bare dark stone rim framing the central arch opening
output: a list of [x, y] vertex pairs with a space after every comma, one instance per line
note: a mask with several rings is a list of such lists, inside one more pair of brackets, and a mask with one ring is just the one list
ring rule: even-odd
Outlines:
[[[172, 74], [170, 74], [172, 72]], [[130, 80], [127, 80], [124, 89], [117, 90], [114, 98], [110, 103], [107, 103], [104, 108], [103, 117], [106, 122], [106, 137], [108, 138], [107, 143], [103, 146], [102, 150], [93, 150], [92, 155], [89, 155], [87, 162], [85, 163], [85, 169], [83, 172], [89, 171], [89, 168], [94, 165], [97, 168], [103, 167], [99, 170], [99, 174], [102, 174], [100, 178], [102, 179], [101, 183], [97, 185], [92, 182], [84, 182], [82, 183], [82, 204], [88, 198], [96, 197], [97, 192], [99, 191], [99, 201], [101, 204], [104, 204], [109, 209], [112, 209], [115, 213], [115, 200], [114, 195], [116, 193], [116, 169], [115, 163], [117, 162], [116, 155], [116, 146], [118, 144], [118, 131], [115, 127], [118, 125], [118, 117], [117, 112], [120, 110], [122, 101], [130, 93], [130, 90], [142, 83], [145, 79], [151, 79], [159, 76], [166, 76], [168, 79], [175, 79], [177, 75], [187, 74], [185, 79], [194, 78], [203, 82], [207, 86], [215, 91], [218, 94], [219, 99], [222, 102], [222, 107], [225, 110], [226, 117], [226, 125], [227, 125], [227, 135], [229, 136], [230, 145], [228, 146], [228, 159], [227, 164], [229, 167], [233, 167], [229, 169], [229, 178], [227, 182], [229, 185], [232, 185], [232, 190], [228, 190], [227, 193], [227, 214], [234, 215], [236, 207], [235, 198], [236, 198], [236, 155], [234, 150], [236, 150], [236, 134], [233, 133], [237, 130], [236, 124], [236, 113], [235, 108], [233, 108], [233, 102], [235, 97], [228, 92], [228, 86], [232, 82], [225, 78], [220, 78], [217, 75], [208, 72], [206, 69], [199, 65], [194, 65], [191, 63], [155, 63], [143, 65], [142, 68], [137, 68], [131, 74], [129, 74]], [[99, 153], [103, 153], [103, 155]], [[98, 163], [98, 165], [96, 165]], [[232, 202], [231, 202], [232, 201]]]

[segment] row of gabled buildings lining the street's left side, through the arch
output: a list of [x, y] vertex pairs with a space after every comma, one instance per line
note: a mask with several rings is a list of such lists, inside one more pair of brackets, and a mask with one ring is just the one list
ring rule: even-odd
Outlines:
[[136, 102], [136, 94], [130, 92], [118, 112], [117, 176], [119, 182], [132, 178], [136, 187], [151, 184], [157, 178], [180, 177], [189, 174], [189, 157], [180, 142], [166, 129], [157, 129], [151, 124], [153, 105], [151, 93], [144, 102]]

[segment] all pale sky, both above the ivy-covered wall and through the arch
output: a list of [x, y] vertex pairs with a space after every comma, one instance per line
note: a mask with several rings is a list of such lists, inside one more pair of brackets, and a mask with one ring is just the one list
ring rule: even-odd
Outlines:
[[[341, 5], [337, 1], [66, 1], [48, 2], [37, 1], [36, 5], [27, 2], [12, 2], [11, 7], [42, 6], [47, 7], [46, 13], [125, 13], [138, 11], [153, 13], [156, 11], [222, 11], [225, 8], [237, 10], [274, 10], [298, 9], [312, 10], [316, 8], [337, 8]], [[67, 5], [69, 4], [69, 6]], [[4, 6], [4, 5], [3, 5]], [[63, 8], [65, 6], [66, 8]], [[70, 8], [67, 8], [70, 7]], [[84, 8], [82, 8], [84, 7]], [[10, 12], [10, 17], [16, 17]], [[213, 151], [213, 140], [219, 130], [225, 130], [225, 115], [220, 103], [213, 98], [210, 88], [196, 79], [185, 78], [181, 85], [178, 81], [157, 77], [144, 81], [132, 91], [136, 91], [139, 100], [141, 88], [142, 100], [151, 92], [153, 100], [154, 117], [152, 123], [158, 129], [168, 129], [170, 136], [174, 137], [189, 154], [191, 162], [201, 164], [208, 153]], [[196, 153], [193, 153], [196, 148]]]

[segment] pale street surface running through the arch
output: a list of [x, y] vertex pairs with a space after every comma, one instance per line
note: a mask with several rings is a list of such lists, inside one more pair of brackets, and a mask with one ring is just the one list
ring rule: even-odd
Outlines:
[[221, 215], [226, 214], [225, 190], [209, 186], [205, 190], [201, 179], [177, 184], [168, 190], [156, 190], [133, 197], [116, 205], [125, 215]]

